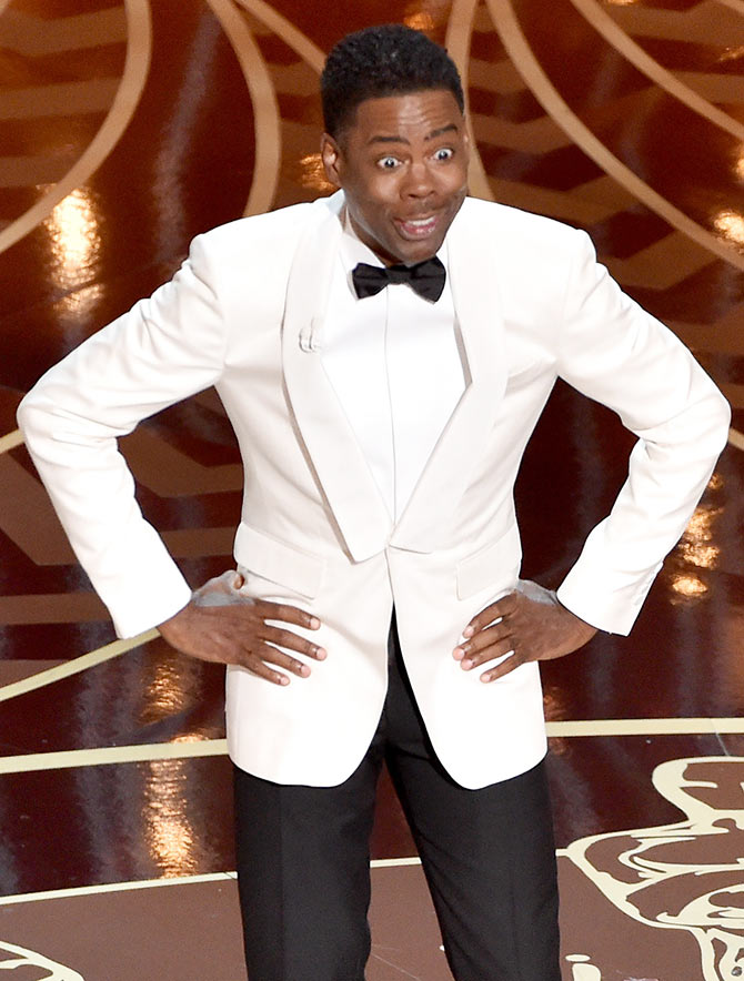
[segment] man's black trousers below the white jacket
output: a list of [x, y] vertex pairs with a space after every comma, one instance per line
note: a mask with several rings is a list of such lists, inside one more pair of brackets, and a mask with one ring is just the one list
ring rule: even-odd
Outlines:
[[235, 768], [250, 981], [363, 981], [369, 840], [383, 759], [421, 854], [455, 981], [561, 981], [544, 762], [482, 790], [455, 783], [426, 737], [394, 621], [382, 718], [346, 781], [283, 786]]

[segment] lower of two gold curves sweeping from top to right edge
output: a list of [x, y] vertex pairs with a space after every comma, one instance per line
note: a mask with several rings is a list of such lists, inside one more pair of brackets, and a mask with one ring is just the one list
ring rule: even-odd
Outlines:
[[485, 0], [485, 2], [491, 11], [493, 22], [501, 34], [504, 48], [520, 74], [545, 112], [571, 136], [574, 143], [601, 166], [605, 173], [614, 178], [639, 201], [643, 202], [646, 208], [655, 211], [673, 227], [736, 269], [744, 270], [744, 255], [734, 246], [716, 239], [715, 235], [712, 235], [702, 225], [698, 225], [697, 222], [693, 221], [683, 211], [680, 211], [678, 208], [675, 208], [658, 194], [658, 192], [654, 191], [645, 181], [642, 181], [579, 119], [559, 94], [535, 58], [526, 38], [522, 33], [522, 28], [510, 0]]

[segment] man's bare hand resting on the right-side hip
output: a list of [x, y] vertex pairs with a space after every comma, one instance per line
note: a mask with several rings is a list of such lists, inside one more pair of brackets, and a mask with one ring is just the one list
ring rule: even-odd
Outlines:
[[465, 639], [455, 647], [453, 657], [463, 670], [470, 671], [511, 654], [481, 675], [481, 681], [495, 681], [527, 661], [571, 654], [595, 634], [596, 628], [562, 606], [551, 589], [521, 581], [517, 590], [473, 617], [462, 631]]

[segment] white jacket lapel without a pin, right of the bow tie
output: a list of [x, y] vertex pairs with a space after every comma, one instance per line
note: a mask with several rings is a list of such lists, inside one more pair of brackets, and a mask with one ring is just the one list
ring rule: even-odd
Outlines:
[[448, 274], [470, 376], [403, 512], [391, 545], [433, 552], [489, 438], [506, 386], [504, 325], [494, 253], [469, 220], [467, 202], [448, 233]]

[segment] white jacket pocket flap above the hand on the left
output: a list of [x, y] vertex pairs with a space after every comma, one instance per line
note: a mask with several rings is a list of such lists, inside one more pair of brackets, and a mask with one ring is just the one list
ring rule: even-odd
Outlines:
[[[314, 599], [325, 573], [325, 562], [241, 523], [235, 535], [235, 558], [242, 569]], [[241, 570], [242, 570], [241, 569]]]

